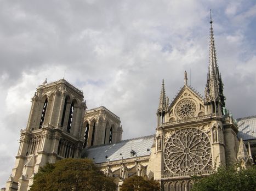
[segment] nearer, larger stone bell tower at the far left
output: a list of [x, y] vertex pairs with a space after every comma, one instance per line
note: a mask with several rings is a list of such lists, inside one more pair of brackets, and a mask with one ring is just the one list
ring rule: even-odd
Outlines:
[[79, 158], [83, 146], [83, 92], [62, 79], [45, 80], [32, 98], [27, 127], [21, 130], [20, 146], [6, 190], [29, 190], [33, 176], [45, 163]]

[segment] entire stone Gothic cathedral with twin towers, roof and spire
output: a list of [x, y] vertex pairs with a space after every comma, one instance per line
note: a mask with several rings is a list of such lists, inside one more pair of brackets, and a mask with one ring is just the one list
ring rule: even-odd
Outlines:
[[235, 120], [225, 108], [210, 23], [204, 97], [187, 85], [185, 72], [183, 88], [169, 103], [163, 81], [154, 135], [122, 140], [117, 115], [104, 106], [87, 110], [82, 91], [64, 79], [45, 80], [32, 98], [14, 168], [2, 190], [29, 190], [40, 166], [69, 157], [94, 160], [106, 176], [115, 177], [117, 185], [139, 175], [159, 181], [165, 191], [189, 191], [194, 181], [191, 175], [209, 175], [220, 165], [237, 160], [252, 165], [254, 156], [247, 140], [255, 146], [256, 137], [243, 141], [237, 135], [246, 137], [240, 127], [249, 123], [247, 128], [255, 128], [256, 117]]

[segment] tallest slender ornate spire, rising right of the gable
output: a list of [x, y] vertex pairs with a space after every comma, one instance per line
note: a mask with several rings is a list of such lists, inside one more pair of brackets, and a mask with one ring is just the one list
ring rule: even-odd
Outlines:
[[206, 101], [220, 103], [221, 109], [225, 106], [225, 97], [223, 95], [223, 82], [219, 73], [219, 67], [217, 64], [217, 56], [214, 43], [214, 34], [212, 26], [212, 11], [211, 11], [211, 28], [210, 28], [210, 41], [209, 41], [209, 68], [206, 83]]

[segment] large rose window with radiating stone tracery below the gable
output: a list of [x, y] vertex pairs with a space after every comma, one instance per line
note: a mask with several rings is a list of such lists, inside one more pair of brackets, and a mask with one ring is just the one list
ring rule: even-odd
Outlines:
[[200, 129], [175, 132], [164, 146], [164, 174], [210, 170], [211, 143]]

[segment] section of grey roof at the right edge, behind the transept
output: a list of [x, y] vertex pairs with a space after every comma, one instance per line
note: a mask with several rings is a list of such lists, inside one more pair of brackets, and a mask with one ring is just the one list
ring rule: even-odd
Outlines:
[[243, 140], [256, 139], [256, 116], [237, 119], [238, 138]]

